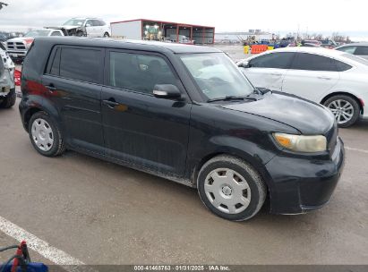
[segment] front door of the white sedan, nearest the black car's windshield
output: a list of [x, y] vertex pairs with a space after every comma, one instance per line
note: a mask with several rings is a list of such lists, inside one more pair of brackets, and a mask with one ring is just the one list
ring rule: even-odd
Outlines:
[[281, 90], [293, 52], [274, 52], [252, 58], [246, 68], [241, 68], [255, 87]]

